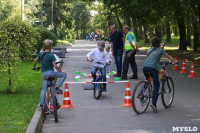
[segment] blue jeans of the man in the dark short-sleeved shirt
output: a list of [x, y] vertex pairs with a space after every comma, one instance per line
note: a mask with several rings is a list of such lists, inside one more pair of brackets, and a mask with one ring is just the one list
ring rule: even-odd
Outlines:
[[117, 74], [121, 75], [122, 71], [122, 56], [123, 56], [123, 49], [114, 49], [113, 56], [115, 58], [115, 63], [117, 67]]

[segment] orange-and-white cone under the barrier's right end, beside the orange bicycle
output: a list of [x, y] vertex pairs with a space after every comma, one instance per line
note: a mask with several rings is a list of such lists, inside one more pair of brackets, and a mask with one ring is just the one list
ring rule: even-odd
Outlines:
[[126, 83], [126, 91], [125, 91], [124, 103], [121, 106], [122, 107], [133, 107], [132, 99], [131, 99], [130, 82]]

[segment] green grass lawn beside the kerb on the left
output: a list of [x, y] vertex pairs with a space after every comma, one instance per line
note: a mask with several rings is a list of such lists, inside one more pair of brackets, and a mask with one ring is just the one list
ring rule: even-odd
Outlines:
[[0, 78], [0, 133], [23, 133], [39, 103], [41, 72], [32, 71], [32, 63], [18, 64], [16, 91], [6, 93], [7, 79]]

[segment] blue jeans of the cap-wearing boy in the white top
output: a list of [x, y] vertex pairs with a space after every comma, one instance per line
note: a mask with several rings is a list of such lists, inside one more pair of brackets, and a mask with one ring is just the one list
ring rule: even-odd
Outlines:
[[[98, 68], [93, 66], [92, 67], [92, 71], [91, 71], [91, 74], [92, 74], [92, 77], [93, 77], [93, 81], [92, 82], [95, 82], [95, 80], [96, 80], [97, 71], [98, 71]], [[102, 78], [103, 78], [103, 82], [106, 82], [106, 67], [101, 68], [100, 72], [101, 72], [101, 75], [102, 75]], [[105, 83], [103, 84], [103, 87], [104, 87], [104, 90], [106, 90], [106, 84]]]

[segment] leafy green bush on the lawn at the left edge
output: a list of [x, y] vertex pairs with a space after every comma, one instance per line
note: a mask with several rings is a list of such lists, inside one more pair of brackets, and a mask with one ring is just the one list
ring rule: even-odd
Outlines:
[[16, 64], [30, 58], [37, 40], [37, 32], [29, 24], [17, 19], [0, 23], [0, 76], [7, 71], [8, 92], [14, 92], [17, 77]]

